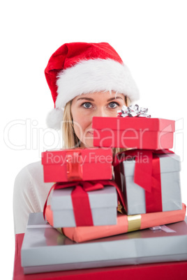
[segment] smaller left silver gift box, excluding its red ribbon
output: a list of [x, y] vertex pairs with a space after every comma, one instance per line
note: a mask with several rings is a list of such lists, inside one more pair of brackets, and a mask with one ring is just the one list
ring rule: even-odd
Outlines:
[[[54, 228], [74, 227], [72, 187], [54, 189], [51, 197]], [[113, 186], [87, 192], [94, 226], [117, 224], [117, 190]]]

